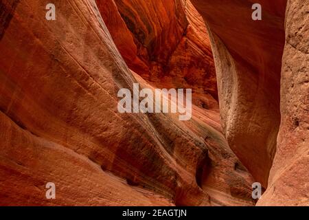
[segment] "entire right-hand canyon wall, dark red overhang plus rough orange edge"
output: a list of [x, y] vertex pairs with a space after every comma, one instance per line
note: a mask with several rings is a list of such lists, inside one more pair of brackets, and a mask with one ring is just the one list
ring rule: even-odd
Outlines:
[[268, 186], [258, 205], [308, 206], [309, 1], [254, 1], [262, 21], [252, 1], [192, 3], [211, 35], [227, 141]]

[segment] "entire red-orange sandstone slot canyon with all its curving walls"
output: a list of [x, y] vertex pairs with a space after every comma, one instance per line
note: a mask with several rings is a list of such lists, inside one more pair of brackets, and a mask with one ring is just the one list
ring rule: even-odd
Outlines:
[[[308, 0], [0, 0], [0, 206], [309, 206], [308, 24]], [[136, 83], [192, 89], [192, 118], [119, 113]]]

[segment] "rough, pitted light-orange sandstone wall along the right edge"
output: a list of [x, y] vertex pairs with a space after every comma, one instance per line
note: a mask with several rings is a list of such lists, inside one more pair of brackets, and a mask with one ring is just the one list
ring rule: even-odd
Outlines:
[[288, 1], [281, 124], [268, 188], [259, 206], [309, 206], [308, 1]]

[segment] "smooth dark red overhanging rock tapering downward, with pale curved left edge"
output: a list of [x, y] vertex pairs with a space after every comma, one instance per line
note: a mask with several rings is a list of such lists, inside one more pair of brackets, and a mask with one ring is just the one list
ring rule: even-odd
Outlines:
[[192, 0], [209, 27], [225, 137], [256, 181], [266, 188], [280, 124], [279, 89], [285, 0]]

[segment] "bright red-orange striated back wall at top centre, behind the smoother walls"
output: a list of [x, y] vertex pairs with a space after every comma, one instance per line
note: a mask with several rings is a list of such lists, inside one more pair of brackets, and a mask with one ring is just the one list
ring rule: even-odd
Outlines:
[[190, 1], [97, 3], [130, 69], [157, 87], [187, 87], [218, 99], [207, 29]]

